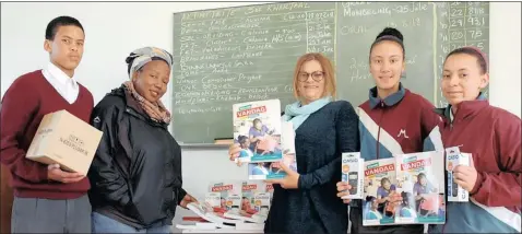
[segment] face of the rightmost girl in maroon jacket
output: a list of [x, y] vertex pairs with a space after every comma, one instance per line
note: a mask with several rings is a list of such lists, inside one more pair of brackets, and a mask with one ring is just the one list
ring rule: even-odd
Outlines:
[[475, 56], [454, 54], [446, 59], [441, 87], [449, 104], [454, 106], [476, 100], [488, 82], [489, 75], [482, 70]]

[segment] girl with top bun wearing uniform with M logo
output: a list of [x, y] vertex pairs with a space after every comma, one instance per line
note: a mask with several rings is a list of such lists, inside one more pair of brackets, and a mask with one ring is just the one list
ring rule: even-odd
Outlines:
[[[403, 35], [384, 28], [371, 44], [369, 63], [376, 86], [358, 110], [360, 155], [365, 162], [393, 157], [393, 154], [442, 150], [435, 106], [401, 84], [405, 70]], [[337, 183], [339, 197], [349, 185]], [[349, 200], [344, 200], [348, 203]], [[389, 202], [389, 201], [388, 201]], [[351, 202], [352, 233], [424, 233], [423, 224], [363, 226], [360, 200]]]

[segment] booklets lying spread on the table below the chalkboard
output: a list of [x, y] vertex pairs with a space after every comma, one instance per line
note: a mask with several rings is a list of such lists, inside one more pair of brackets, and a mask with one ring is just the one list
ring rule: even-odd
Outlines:
[[198, 217], [183, 218], [181, 230], [259, 230], [271, 206], [272, 189], [257, 180], [214, 182], [204, 201], [187, 207]]

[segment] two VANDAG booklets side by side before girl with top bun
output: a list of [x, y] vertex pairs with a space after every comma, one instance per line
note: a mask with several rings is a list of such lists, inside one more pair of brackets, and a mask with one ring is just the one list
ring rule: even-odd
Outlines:
[[363, 225], [446, 223], [443, 151], [395, 154], [365, 165]]

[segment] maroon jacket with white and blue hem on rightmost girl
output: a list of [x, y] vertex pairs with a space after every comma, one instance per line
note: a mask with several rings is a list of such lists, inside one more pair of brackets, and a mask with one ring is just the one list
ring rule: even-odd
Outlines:
[[471, 153], [477, 179], [470, 202], [448, 202], [444, 225], [430, 233], [521, 232], [521, 120], [479, 96], [436, 112], [443, 117], [442, 142]]

